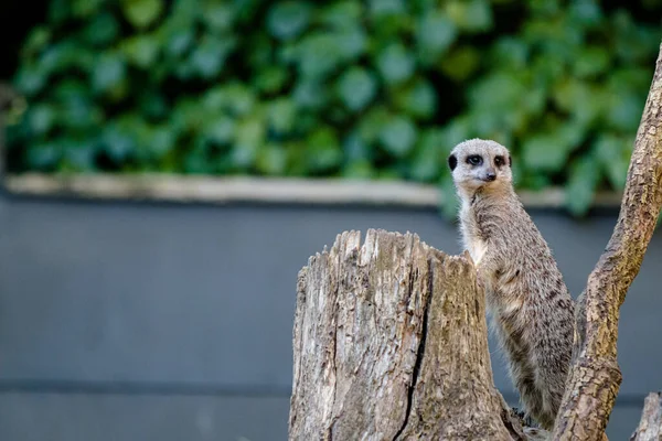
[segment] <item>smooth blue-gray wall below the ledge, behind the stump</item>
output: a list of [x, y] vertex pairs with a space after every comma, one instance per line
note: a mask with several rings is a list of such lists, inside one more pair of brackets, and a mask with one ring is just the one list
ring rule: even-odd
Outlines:
[[[615, 214], [533, 217], [576, 295]], [[0, 439], [286, 439], [297, 271], [338, 233], [370, 227], [459, 251], [433, 211], [3, 195]], [[658, 234], [622, 308], [612, 439], [627, 439], [644, 394], [662, 387], [660, 259]]]

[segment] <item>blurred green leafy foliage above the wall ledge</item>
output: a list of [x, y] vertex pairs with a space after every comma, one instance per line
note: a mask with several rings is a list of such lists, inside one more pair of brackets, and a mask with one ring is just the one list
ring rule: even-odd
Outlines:
[[[619, 3], [619, 2], [616, 2]], [[659, 1], [52, 0], [9, 166], [404, 179], [471, 137], [586, 213], [621, 189]], [[452, 211], [452, 198], [445, 207]]]

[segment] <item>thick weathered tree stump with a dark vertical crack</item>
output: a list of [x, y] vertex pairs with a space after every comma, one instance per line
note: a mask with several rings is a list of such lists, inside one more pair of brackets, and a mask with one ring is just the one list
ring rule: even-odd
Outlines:
[[290, 440], [512, 440], [473, 263], [416, 235], [339, 235], [299, 273]]

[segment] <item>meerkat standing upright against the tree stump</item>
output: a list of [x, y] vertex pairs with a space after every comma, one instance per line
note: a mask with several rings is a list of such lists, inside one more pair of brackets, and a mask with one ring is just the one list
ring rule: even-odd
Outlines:
[[515, 194], [508, 149], [468, 140], [452, 149], [448, 165], [461, 200], [462, 243], [485, 290], [511, 379], [525, 413], [551, 430], [573, 352], [574, 302]]

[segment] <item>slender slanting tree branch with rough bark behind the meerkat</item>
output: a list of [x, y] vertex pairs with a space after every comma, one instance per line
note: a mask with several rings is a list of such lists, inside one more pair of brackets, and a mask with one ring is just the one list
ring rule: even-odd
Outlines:
[[613, 234], [588, 278], [556, 440], [600, 440], [618, 394], [619, 308], [639, 272], [662, 206], [662, 46], [643, 110]]

